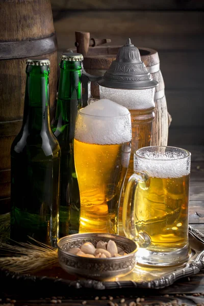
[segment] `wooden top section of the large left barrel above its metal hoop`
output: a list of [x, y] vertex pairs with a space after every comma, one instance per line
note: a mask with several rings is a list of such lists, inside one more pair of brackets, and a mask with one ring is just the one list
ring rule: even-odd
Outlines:
[[[55, 33], [49, 0], [3, 0], [0, 20], [0, 41], [40, 39]], [[42, 18], [41, 18], [42, 16]], [[46, 16], [46, 18], [44, 18]], [[37, 18], [36, 18], [37, 17]], [[17, 27], [13, 27], [12, 21]]]

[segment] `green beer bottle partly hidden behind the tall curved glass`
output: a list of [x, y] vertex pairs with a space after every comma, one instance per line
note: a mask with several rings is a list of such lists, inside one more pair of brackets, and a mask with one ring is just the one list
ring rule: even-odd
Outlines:
[[60, 237], [79, 232], [80, 193], [75, 173], [73, 138], [78, 110], [82, 107], [83, 56], [63, 53], [56, 118], [52, 126], [61, 147]]

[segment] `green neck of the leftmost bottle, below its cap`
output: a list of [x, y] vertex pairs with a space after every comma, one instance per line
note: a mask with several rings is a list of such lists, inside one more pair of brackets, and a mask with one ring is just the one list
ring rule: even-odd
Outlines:
[[48, 74], [48, 66], [27, 66], [23, 127], [32, 134], [51, 131]]

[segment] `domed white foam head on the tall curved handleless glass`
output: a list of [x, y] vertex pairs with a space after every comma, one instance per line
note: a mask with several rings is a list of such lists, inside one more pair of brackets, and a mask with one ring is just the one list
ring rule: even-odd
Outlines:
[[97, 100], [80, 110], [74, 138], [95, 144], [120, 144], [131, 141], [130, 112], [111, 100]]

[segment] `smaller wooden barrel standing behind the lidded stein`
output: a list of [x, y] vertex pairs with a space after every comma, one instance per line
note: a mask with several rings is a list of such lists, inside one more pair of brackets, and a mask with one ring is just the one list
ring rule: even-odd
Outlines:
[[[120, 46], [96, 46], [89, 47], [87, 56], [84, 57], [84, 68], [88, 73], [104, 75], [115, 60]], [[152, 125], [151, 145], [167, 145], [169, 116], [164, 92], [164, 80], [160, 70], [158, 52], [154, 49], [139, 47], [141, 59], [146, 65], [152, 77], [159, 85], [155, 91], [155, 120]], [[99, 97], [99, 87], [91, 83], [91, 94]]]

